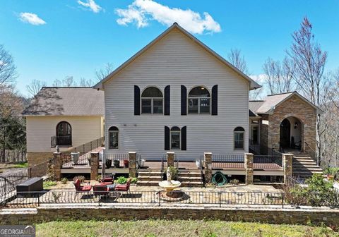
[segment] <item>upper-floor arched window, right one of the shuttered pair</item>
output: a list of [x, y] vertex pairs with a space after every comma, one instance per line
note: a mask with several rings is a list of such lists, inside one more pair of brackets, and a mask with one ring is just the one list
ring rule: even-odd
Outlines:
[[210, 92], [205, 87], [194, 87], [188, 100], [189, 114], [210, 114]]

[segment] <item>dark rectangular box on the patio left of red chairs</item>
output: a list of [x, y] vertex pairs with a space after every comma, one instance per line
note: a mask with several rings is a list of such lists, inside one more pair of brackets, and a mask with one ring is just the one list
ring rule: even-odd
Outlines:
[[35, 192], [41, 192], [43, 189], [44, 185], [42, 178], [30, 178], [28, 181], [16, 186], [16, 194], [18, 197], [31, 197], [32, 195], [35, 195]]

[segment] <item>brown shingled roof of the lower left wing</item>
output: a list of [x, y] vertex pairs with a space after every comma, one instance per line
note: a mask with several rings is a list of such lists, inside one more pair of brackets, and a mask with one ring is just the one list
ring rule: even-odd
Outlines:
[[104, 116], [104, 92], [92, 87], [42, 87], [24, 116]]

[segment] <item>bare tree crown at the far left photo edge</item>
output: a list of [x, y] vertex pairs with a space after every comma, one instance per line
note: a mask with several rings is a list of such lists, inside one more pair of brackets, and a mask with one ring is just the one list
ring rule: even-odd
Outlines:
[[0, 86], [13, 83], [18, 76], [11, 54], [0, 44]]

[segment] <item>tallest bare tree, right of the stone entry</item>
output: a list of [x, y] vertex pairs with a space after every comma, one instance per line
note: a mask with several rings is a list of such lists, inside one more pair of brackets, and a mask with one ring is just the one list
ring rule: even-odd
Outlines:
[[[307, 17], [304, 18], [301, 28], [292, 34], [293, 42], [287, 55], [295, 63], [293, 77], [299, 90], [312, 103], [321, 107], [321, 94], [326, 87], [326, 80], [323, 71], [327, 60], [327, 52], [323, 51], [320, 45], [315, 42], [312, 32], [312, 25]], [[319, 129], [320, 115], [316, 119], [316, 145], [318, 151], [318, 164], [321, 164], [321, 130]]]

